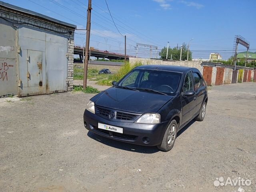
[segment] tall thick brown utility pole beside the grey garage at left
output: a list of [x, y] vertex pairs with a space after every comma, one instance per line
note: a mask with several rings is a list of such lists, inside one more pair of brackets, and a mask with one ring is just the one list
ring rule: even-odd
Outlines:
[[89, 55], [89, 43], [90, 43], [90, 31], [91, 31], [91, 12], [92, 12], [92, 0], [88, 0], [87, 10], [87, 24], [86, 24], [86, 46], [85, 46], [85, 66], [84, 66], [84, 82], [83, 88], [86, 89], [87, 84], [87, 69], [88, 69], [88, 55]]

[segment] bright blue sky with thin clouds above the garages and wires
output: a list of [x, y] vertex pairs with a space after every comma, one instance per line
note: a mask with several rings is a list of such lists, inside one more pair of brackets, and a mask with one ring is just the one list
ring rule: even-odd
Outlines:
[[[8, 0], [5, 1], [85, 28], [88, 0]], [[135, 54], [136, 43], [180, 46], [190, 42], [193, 58], [209, 58], [218, 52], [224, 59], [232, 55], [234, 36], [241, 35], [256, 52], [255, 0], [107, 0], [114, 21], [127, 36], [127, 53]], [[69, 8], [69, 9], [67, 9]], [[105, 0], [92, 0], [90, 46], [124, 52], [124, 37], [115, 28]], [[83, 45], [85, 31], [76, 31], [75, 44]], [[238, 51], [245, 48], [239, 45]], [[149, 57], [140, 47], [138, 56]], [[155, 51], [154, 51], [155, 54]], [[155, 56], [155, 55], [154, 55]]]

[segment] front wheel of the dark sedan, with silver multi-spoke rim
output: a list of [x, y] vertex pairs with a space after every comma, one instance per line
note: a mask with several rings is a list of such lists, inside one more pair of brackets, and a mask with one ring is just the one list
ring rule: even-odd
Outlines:
[[174, 142], [177, 137], [177, 132], [178, 132], [177, 122], [176, 120], [172, 120], [164, 133], [162, 143], [158, 145], [157, 148], [162, 151], [170, 151], [174, 146]]

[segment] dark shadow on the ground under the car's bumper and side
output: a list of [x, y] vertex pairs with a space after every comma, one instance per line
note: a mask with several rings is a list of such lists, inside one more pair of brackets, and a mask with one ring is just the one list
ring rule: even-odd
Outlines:
[[[177, 137], [180, 136], [183, 132], [185, 132], [194, 122], [195, 120], [192, 120], [184, 128], [182, 128], [178, 132]], [[110, 147], [118, 148], [121, 150], [132, 151], [136, 153], [146, 153], [146, 154], [161, 152], [156, 146], [140, 146], [140, 145], [134, 145], [134, 144], [129, 144], [125, 142], [120, 142], [120, 141], [112, 140], [112, 139], [94, 134], [93, 132], [90, 132], [90, 131], [87, 133], [87, 136], [98, 142], [101, 142], [102, 144], [108, 145]]]

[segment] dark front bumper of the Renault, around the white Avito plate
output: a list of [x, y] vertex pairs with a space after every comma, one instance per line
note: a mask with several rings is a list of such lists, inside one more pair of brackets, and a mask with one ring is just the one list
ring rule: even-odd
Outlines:
[[[123, 134], [99, 129], [98, 123], [123, 128]], [[162, 122], [159, 124], [140, 124], [134, 122], [110, 121], [85, 110], [84, 126], [95, 134], [113, 140], [143, 146], [156, 146], [161, 144], [168, 122]]]

